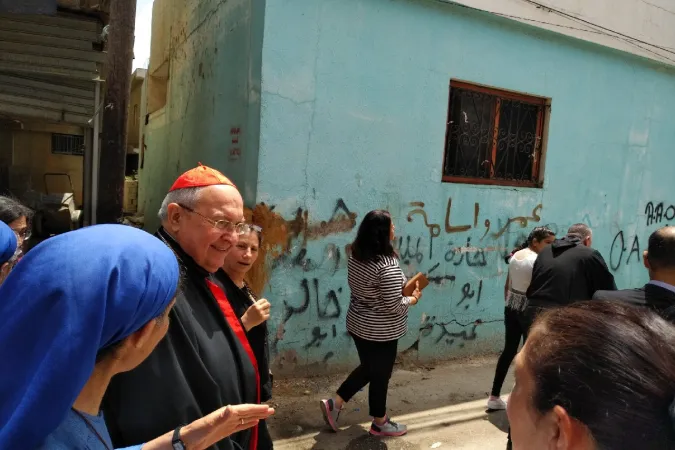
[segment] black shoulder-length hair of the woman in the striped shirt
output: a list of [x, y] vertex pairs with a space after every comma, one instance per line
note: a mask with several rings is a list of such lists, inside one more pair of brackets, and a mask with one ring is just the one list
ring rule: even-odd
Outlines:
[[391, 214], [388, 211], [378, 209], [366, 214], [352, 244], [352, 256], [362, 262], [380, 256], [398, 257], [391, 244]]

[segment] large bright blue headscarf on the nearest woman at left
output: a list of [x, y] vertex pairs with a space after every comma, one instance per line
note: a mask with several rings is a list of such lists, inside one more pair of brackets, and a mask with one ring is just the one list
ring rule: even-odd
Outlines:
[[72, 231], [28, 252], [0, 285], [0, 448], [42, 444], [99, 350], [159, 317], [178, 280], [173, 252], [124, 225]]

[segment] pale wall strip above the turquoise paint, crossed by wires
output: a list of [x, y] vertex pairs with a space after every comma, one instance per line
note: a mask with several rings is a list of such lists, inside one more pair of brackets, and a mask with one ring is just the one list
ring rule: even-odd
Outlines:
[[675, 5], [670, 0], [430, 1], [503, 14], [556, 33], [675, 63]]

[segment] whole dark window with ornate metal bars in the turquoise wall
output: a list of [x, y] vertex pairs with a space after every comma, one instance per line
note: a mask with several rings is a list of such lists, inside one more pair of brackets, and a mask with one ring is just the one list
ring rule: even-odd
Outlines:
[[451, 81], [443, 181], [541, 187], [549, 100]]

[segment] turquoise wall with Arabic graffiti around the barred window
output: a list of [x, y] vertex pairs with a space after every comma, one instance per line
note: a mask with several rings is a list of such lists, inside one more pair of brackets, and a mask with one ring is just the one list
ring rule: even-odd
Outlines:
[[[441, 183], [451, 78], [552, 99], [543, 189]], [[268, 0], [257, 200], [300, 230], [270, 257], [277, 370], [356, 360], [347, 211], [389, 209], [405, 271], [435, 277], [400, 343], [414, 359], [501, 347], [502, 256], [533, 226], [583, 221], [620, 287], [645, 282], [631, 250], [658, 226], [648, 203], [675, 202], [673, 104], [672, 68], [507, 19], [433, 1]], [[446, 233], [449, 199], [468, 231]], [[507, 226], [515, 217], [531, 219]]]

